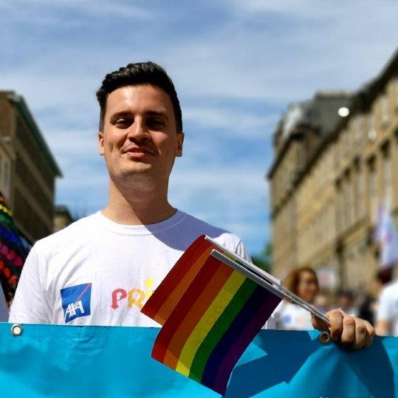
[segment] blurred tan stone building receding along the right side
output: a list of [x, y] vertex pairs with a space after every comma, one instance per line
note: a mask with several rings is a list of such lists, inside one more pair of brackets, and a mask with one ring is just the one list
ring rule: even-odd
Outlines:
[[398, 54], [358, 92], [317, 93], [304, 104], [274, 134], [273, 273], [310, 265], [324, 289], [367, 291], [380, 204], [398, 221]]

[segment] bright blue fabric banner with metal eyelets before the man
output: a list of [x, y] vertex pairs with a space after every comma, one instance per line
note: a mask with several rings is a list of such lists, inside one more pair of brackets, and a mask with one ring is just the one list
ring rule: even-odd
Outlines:
[[[0, 324], [0, 397], [219, 397], [151, 358], [159, 329]], [[18, 329], [16, 330], [18, 332]], [[398, 397], [398, 338], [347, 352], [320, 332], [262, 330], [226, 397]]]

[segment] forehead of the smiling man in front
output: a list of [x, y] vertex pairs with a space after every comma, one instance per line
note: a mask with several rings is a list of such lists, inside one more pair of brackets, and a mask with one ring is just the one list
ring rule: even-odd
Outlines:
[[107, 97], [105, 114], [146, 111], [174, 115], [170, 96], [158, 86], [140, 84], [119, 87]]

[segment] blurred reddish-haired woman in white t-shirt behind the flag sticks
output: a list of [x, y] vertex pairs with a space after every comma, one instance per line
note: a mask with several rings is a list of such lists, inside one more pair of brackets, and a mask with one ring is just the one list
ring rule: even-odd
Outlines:
[[[315, 298], [319, 293], [319, 282], [317, 274], [311, 267], [300, 267], [293, 269], [283, 280], [283, 286], [289, 291], [298, 295], [309, 304], [314, 304]], [[274, 328], [281, 330], [310, 330], [312, 327], [312, 317], [308, 310], [292, 303], [288, 299], [283, 299], [276, 307], [272, 318], [274, 318]], [[272, 321], [269, 322], [271, 327]], [[268, 326], [267, 326], [268, 327]]]

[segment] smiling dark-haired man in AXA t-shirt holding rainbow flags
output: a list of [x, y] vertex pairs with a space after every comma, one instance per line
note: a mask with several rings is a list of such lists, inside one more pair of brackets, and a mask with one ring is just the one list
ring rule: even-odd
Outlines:
[[[177, 93], [165, 71], [152, 62], [129, 64], [105, 76], [97, 98], [108, 204], [35, 244], [10, 322], [158, 326], [140, 310], [199, 235], [249, 258], [236, 235], [168, 202], [184, 134]], [[339, 310], [330, 320], [333, 339], [353, 348], [371, 344], [367, 322]], [[315, 327], [324, 325], [315, 321]]]

